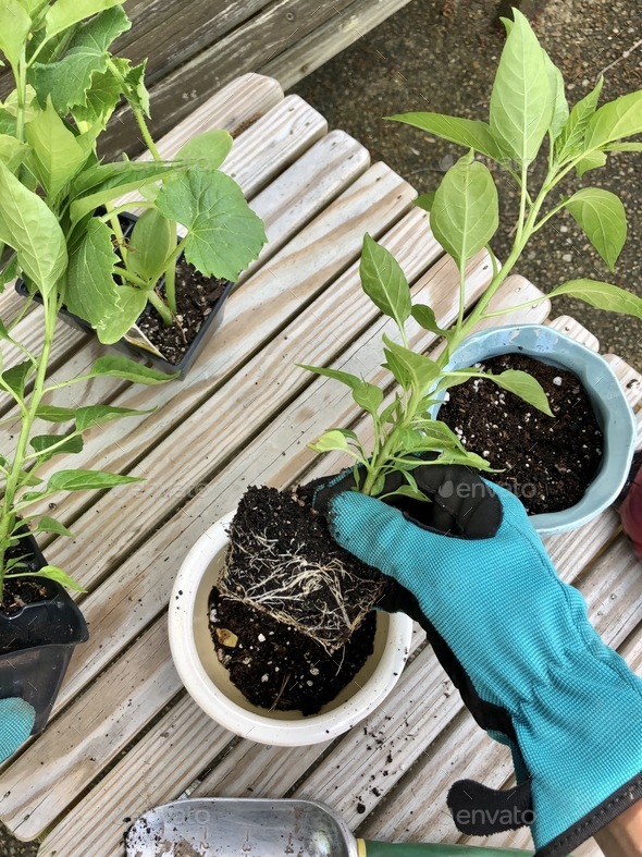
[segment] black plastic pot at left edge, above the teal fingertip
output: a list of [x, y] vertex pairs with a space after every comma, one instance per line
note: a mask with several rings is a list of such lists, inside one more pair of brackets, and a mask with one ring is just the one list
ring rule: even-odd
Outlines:
[[[34, 571], [47, 565], [35, 539], [25, 540], [33, 552]], [[20, 697], [36, 711], [32, 735], [42, 732], [64, 678], [74, 648], [89, 634], [83, 614], [67, 592], [53, 580], [39, 579], [49, 597], [27, 604], [15, 615], [0, 613], [0, 699]]]

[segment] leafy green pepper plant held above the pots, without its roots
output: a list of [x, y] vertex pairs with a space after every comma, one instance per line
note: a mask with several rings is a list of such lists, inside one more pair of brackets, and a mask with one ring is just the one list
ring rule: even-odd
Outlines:
[[[310, 444], [317, 452], [342, 450], [355, 460], [355, 488], [366, 494], [383, 497], [385, 477], [395, 470], [406, 479], [393, 492], [419, 500], [412, 470], [419, 455], [429, 454], [434, 464], [459, 463], [491, 469], [479, 455], [467, 452], [457, 436], [433, 418], [434, 408], [448, 388], [469, 378], [489, 378], [533, 406], [551, 414], [546, 395], [527, 372], [507, 370], [501, 375], [478, 367], [449, 370], [450, 356], [480, 321], [485, 321], [528, 304], [492, 309], [493, 296], [521, 256], [532, 235], [548, 220], [567, 210], [610, 270], [622, 249], [627, 234], [625, 208], [620, 199], [601, 187], [585, 186], [571, 196], [552, 197], [575, 171], [579, 179], [603, 167], [610, 152], [640, 151], [642, 143], [628, 138], [642, 133], [642, 90], [597, 107], [602, 79], [594, 89], [569, 110], [560, 71], [539, 44], [527, 19], [514, 10], [514, 21], [505, 21], [507, 39], [490, 102], [489, 122], [440, 113], [406, 113], [391, 119], [418, 127], [468, 149], [444, 175], [434, 193], [417, 199], [430, 211], [434, 236], [453, 257], [459, 271], [457, 319], [444, 330], [433, 309], [411, 305], [404, 273], [391, 254], [365, 240], [361, 283], [378, 308], [397, 325], [400, 344], [384, 335], [384, 367], [390, 369], [400, 392], [384, 401], [384, 389], [357, 376], [335, 369], [307, 366], [319, 375], [335, 378], [353, 391], [355, 402], [373, 420], [372, 449], [344, 428], [325, 432]], [[506, 170], [519, 186], [520, 205], [513, 248], [502, 268], [490, 249], [498, 228], [498, 196], [493, 175], [481, 160], [490, 159]], [[532, 168], [543, 160], [545, 176], [533, 187]], [[466, 266], [483, 248], [490, 253], [493, 274], [472, 311], [466, 316]], [[642, 319], [642, 299], [612, 283], [590, 279], [569, 280], [539, 298], [546, 301], [570, 295], [591, 306]], [[439, 357], [413, 352], [408, 345], [407, 325], [412, 318], [420, 327], [444, 341]], [[432, 455], [430, 455], [432, 454]]]

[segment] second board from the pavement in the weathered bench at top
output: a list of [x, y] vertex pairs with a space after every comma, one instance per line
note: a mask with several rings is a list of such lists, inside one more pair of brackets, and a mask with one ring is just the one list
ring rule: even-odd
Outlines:
[[[238, 74], [258, 72], [269, 60], [324, 21], [341, 15], [349, 0], [275, 0], [244, 27], [234, 30], [208, 50], [151, 87], [150, 128], [155, 136], [166, 134], [205, 98]], [[139, 155], [144, 147], [128, 108], [115, 115], [101, 138], [101, 151]]]

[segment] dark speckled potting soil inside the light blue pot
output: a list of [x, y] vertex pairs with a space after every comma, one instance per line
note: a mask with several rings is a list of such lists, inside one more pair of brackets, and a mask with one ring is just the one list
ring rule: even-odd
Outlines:
[[476, 378], [450, 389], [439, 418], [467, 450], [505, 469], [487, 478], [519, 497], [529, 514], [573, 506], [595, 476], [603, 450], [602, 431], [579, 379], [521, 354], [484, 360], [480, 368], [495, 375], [521, 369], [536, 378], [553, 417]]

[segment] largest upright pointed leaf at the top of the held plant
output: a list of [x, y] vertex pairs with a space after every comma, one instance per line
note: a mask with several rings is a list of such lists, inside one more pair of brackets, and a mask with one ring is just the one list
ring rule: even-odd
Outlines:
[[528, 20], [517, 9], [491, 95], [491, 131], [519, 163], [530, 164], [553, 121], [544, 52]]

